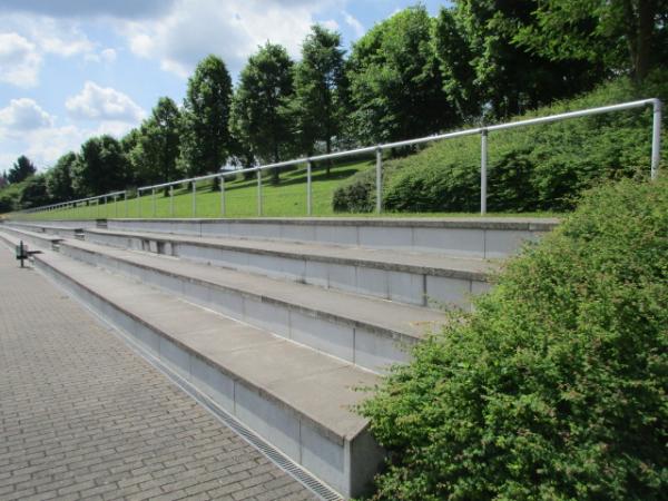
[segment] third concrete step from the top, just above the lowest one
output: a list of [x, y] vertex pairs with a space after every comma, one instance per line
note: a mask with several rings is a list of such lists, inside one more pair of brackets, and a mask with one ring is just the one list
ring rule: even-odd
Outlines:
[[184, 297], [250, 325], [383, 372], [445, 314], [175, 257], [63, 240], [60, 253]]

